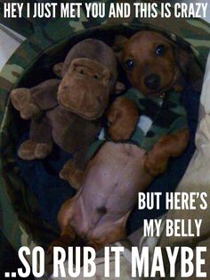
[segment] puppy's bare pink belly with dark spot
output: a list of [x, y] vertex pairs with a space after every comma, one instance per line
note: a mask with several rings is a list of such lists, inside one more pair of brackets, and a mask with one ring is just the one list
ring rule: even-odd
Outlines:
[[110, 234], [128, 216], [152, 178], [142, 167], [144, 151], [133, 144], [106, 143], [88, 166], [71, 225], [87, 239]]

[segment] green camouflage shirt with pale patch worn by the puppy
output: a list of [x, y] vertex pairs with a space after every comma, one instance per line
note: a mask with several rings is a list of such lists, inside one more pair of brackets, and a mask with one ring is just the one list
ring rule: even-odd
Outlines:
[[171, 90], [165, 96], [145, 96], [135, 88], [124, 95], [140, 109], [140, 119], [130, 141], [149, 152], [165, 135], [188, 128], [187, 113], [181, 104], [181, 94]]

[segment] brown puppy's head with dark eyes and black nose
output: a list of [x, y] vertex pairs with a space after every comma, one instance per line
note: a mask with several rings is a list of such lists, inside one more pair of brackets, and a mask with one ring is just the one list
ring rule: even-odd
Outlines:
[[140, 31], [116, 43], [127, 77], [144, 95], [166, 92], [181, 73], [188, 71], [190, 56], [178, 45], [154, 31]]

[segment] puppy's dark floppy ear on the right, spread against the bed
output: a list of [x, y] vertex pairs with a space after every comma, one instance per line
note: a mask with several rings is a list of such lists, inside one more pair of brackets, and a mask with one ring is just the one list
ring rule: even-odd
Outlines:
[[173, 48], [175, 60], [183, 76], [195, 89], [201, 89], [204, 73], [194, 55], [190, 51], [183, 50], [179, 45], [174, 44]]

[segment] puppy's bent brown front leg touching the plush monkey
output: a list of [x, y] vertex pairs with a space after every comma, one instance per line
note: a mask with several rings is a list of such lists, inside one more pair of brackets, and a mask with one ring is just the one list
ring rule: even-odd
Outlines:
[[136, 128], [139, 109], [136, 103], [126, 97], [118, 97], [107, 113], [109, 136], [112, 141], [128, 140]]

